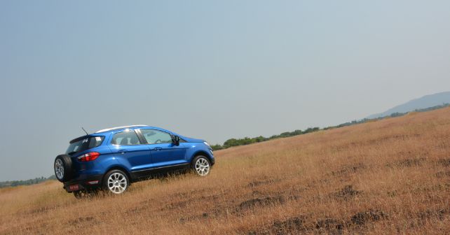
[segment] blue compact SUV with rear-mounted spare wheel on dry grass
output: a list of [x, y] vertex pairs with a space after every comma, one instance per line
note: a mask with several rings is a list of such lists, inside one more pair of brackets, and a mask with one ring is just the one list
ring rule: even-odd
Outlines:
[[207, 176], [214, 165], [210, 145], [201, 139], [147, 125], [102, 129], [74, 138], [53, 164], [63, 188], [81, 198], [98, 190], [122, 194], [131, 183], [191, 169]]

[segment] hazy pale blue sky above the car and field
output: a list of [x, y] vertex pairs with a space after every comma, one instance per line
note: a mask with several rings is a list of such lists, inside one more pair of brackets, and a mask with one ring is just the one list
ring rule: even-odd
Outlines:
[[0, 180], [151, 124], [223, 143], [450, 90], [450, 1], [0, 1]]

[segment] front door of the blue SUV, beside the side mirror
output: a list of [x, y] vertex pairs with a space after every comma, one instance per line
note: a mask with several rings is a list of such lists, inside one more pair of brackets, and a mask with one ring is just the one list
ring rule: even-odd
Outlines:
[[151, 161], [155, 168], [186, 164], [186, 148], [175, 145], [172, 135], [158, 129], [139, 130], [150, 149]]

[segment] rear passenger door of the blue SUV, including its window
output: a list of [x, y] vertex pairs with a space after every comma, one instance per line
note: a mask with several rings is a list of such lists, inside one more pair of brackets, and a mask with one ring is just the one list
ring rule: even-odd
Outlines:
[[139, 140], [134, 130], [118, 131], [111, 139], [111, 151], [116, 153], [118, 161], [130, 165], [130, 171], [143, 171], [152, 166], [150, 150]]

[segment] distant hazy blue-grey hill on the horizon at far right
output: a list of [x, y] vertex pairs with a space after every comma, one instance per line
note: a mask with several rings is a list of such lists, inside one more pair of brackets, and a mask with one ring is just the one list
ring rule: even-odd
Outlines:
[[367, 117], [367, 119], [389, 116], [393, 113], [407, 113], [407, 112], [415, 111], [416, 109], [428, 108], [428, 107], [438, 106], [438, 105], [442, 105], [442, 104], [450, 104], [450, 92], [429, 94], [429, 95], [426, 95], [425, 97], [413, 99], [411, 101], [408, 101], [405, 104], [400, 104], [399, 106], [390, 108], [388, 111], [386, 111], [384, 113], [376, 113], [374, 115], [370, 115], [369, 117]]

